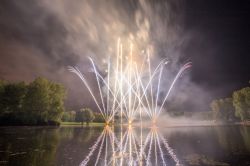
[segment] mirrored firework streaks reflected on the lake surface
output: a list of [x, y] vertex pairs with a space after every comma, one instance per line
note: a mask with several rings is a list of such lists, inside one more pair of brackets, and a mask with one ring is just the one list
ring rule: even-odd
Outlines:
[[[180, 166], [180, 161], [167, 141], [152, 127], [145, 138], [137, 136], [130, 126], [122, 138], [117, 139], [114, 128], [106, 126], [81, 166], [94, 161], [94, 165], [168, 165]], [[142, 130], [141, 130], [142, 131]], [[140, 143], [143, 142], [143, 143]], [[105, 149], [105, 150], [104, 150]], [[100, 157], [102, 155], [102, 157]], [[95, 157], [94, 157], [95, 156]], [[93, 160], [91, 160], [93, 159]]]

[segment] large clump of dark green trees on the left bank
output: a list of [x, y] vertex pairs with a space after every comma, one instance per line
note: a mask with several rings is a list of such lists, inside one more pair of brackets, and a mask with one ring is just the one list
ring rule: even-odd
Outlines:
[[45, 78], [0, 81], [1, 125], [58, 125], [64, 112], [65, 88]]

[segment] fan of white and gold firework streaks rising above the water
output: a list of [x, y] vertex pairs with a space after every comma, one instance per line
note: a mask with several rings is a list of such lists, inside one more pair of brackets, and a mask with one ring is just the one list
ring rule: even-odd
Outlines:
[[[128, 123], [131, 123], [139, 110], [143, 110], [155, 122], [162, 112], [163, 106], [177, 79], [185, 69], [191, 66], [191, 63], [186, 63], [180, 68], [163, 100], [160, 102], [162, 73], [168, 61], [163, 59], [152, 70], [149, 51], [142, 59], [140, 64], [135, 61], [132, 44], [130, 45], [129, 56], [124, 56], [123, 46], [120, 40], [118, 40], [117, 56], [113, 61], [111, 61], [110, 57], [108, 58], [107, 77], [105, 79], [98, 72], [94, 61], [89, 58], [98, 85], [98, 95], [94, 94], [88, 81], [77, 67], [69, 67], [69, 70], [77, 74], [82, 80], [107, 123], [110, 123], [118, 112], [121, 120], [122, 116], [125, 116]], [[147, 78], [146, 81], [145, 78]], [[154, 88], [154, 84], [157, 85], [156, 88]], [[98, 102], [97, 96], [100, 96], [101, 104]]]

